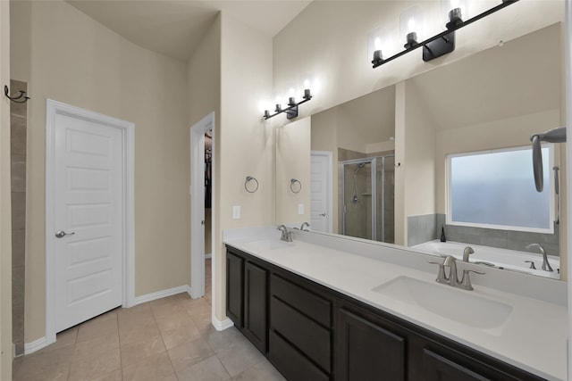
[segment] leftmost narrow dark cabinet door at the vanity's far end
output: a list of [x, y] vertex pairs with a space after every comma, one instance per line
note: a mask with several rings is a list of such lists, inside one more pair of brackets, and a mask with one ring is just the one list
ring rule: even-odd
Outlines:
[[242, 327], [244, 260], [226, 252], [226, 316]]

